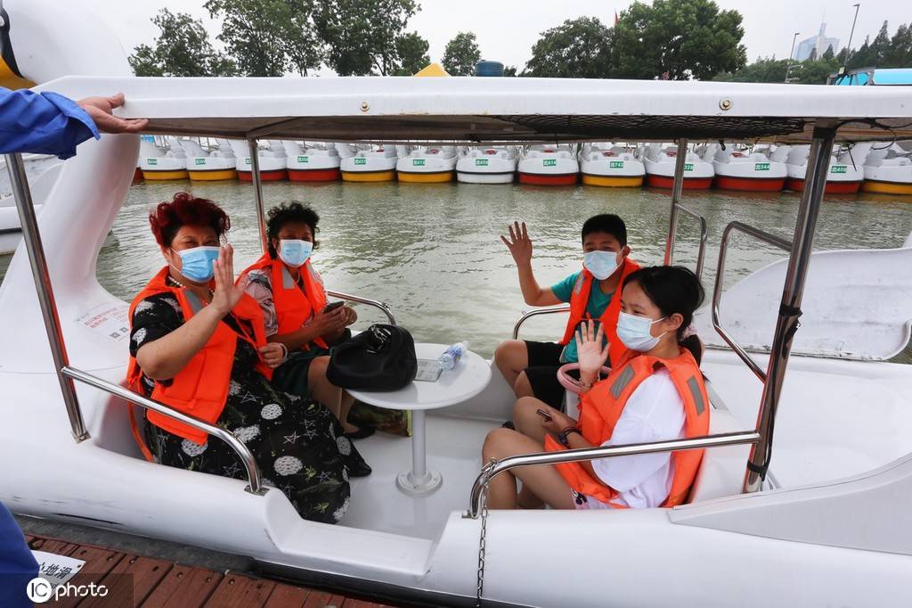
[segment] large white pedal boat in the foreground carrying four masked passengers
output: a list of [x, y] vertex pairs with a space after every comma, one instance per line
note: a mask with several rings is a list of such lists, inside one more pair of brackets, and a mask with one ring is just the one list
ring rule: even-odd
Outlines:
[[[18, 16], [36, 4], [42, 10], [51, 5], [7, 0], [14, 28]], [[83, 15], [78, 7], [53, 7], [47, 15], [70, 17], [67, 26]], [[816, 119], [824, 126], [861, 116], [912, 119], [907, 95], [886, 88], [872, 93], [715, 82], [423, 79], [403, 96], [399, 79], [215, 82], [69, 77], [42, 89], [74, 98], [122, 90], [129, 100], [123, 115], [149, 117], [153, 133], [177, 118], [201, 136], [216, 136], [262, 130], [275, 125], [277, 116], [286, 117], [270, 135], [291, 140], [306, 136], [302, 125], [319, 121], [333, 141], [356, 131], [383, 141], [395, 121], [425, 139], [470, 142], [503, 129], [503, 117], [513, 117], [513, 137], [519, 132], [541, 141], [543, 133], [529, 127], [538, 117], [559, 116], [543, 129], [553, 135], [554, 124], [565, 125], [570, 137], [593, 117], [633, 119], [646, 104], [653, 114], [649, 137], [663, 125], [674, 137], [675, 125], [694, 117], [700, 130], [689, 127], [689, 133], [718, 139], [730, 121], [746, 117], [751, 124], [767, 121], [757, 128], [776, 129], [780, 138], [802, 138], [803, 123], [775, 118], [791, 116], [796, 100], [801, 108], [825, 109], [817, 110], [823, 115]], [[731, 115], [720, 116], [720, 98], [733, 101]], [[657, 103], [662, 99], [668, 102]], [[358, 101], [349, 108], [346, 100]], [[366, 112], [362, 101], [382, 110]], [[470, 118], [477, 132], [466, 132]], [[55, 213], [38, 219], [44, 242], [56, 245], [45, 251], [47, 281], [39, 274], [36, 289], [28, 260], [35, 252], [23, 246], [0, 287], [0, 462], [8, 465], [0, 499], [18, 513], [250, 556], [266, 574], [393, 602], [468, 606], [481, 596], [483, 605], [492, 606], [904, 605], [912, 576], [912, 536], [906, 532], [912, 527], [906, 500], [912, 492], [912, 366], [886, 359], [909, 339], [910, 276], [895, 270], [908, 267], [912, 249], [808, 257], [824, 189], [824, 154], [835, 134], [816, 132], [808, 173], [813, 186], [799, 210], [793, 263], [742, 280], [721, 304], [726, 310], [731, 302], [734, 315], [723, 313], [722, 324], [731, 324], [746, 348], [760, 351], [741, 356], [752, 356], [757, 369], [776, 381], [761, 382], [728, 347], [707, 352], [703, 369], [714, 387], [711, 435], [687, 445], [724, 447], [707, 450], [688, 505], [486, 513], [475, 491], [482, 486], [472, 485], [482, 465], [479, 448], [513, 403], [495, 370], [477, 397], [428, 416], [429, 465], [443, 478], [436, 492], [399, 492], [394, 478], [409, 466], [409, 440], [375, 435], [359, 444], [374, 474], [354, 481], [351, 507], [337, 526], [300, 519], [280, 492], [257, 492], [262, 488], [256, 475], [249, 482], [202, 475], [139, 455], [130, 436], [130, 406], [121, 399], [137, 397], [117, 389], [127, 360], [127, 304], [98, 285], [93, 267], [130, 187], [138, 138], [87, 142], [67, 162], [61, 187], [49, 194], [46, 204]], [[636, 139], [630, 131], [619, 134]], [[674, 223], [679, 201], [673, 196], [671, 204]], [[25, 201], [20, 206], [27, 217], [30, 207]], [[780, 236], [772, 236], [732, 223], [724, 238], [736, 229], [785, 246], [783, 237], [793, 232], [777, 226]], [[668, 259], [673, 253], [669, 242]], [[854, 285], [862, 290], [848, 288]], [[48, 341], [38, 305], [38, 294], [46, 299], [50, 286], [66, 358], [57, 341]], [[867, 296], [872, 289], [875, 297], [859, 301], [859, 293], [867, 290]], [[750, 304], [746, 319], [738, 316], [739, 302]], [[804, 327], [792, 349], [787, 328], [802, 306]], [[834, 310], [840, 311], [835, 318]], [[701, 335], [709, 340], [711, 332], [703, 329]], [[763, 353], [770, 343], [777, 348]], [[67, 408], [62, 391], [68, 394], [66, 379], [72, 377], [78, 382]], [[754, 407], [761, 401], [754, 430]], [[741, 493], [749, 452], [755, 466], [768, 454], [775, 411], [777, 449], [769, 474], [761, 484], [761, 476], [751, 473], [751, 492]], [[759, 443], [751, 449], [752, 442]], [[666, 450], [683, 446], [662, 444]], [[645, 448], [597, 448], [590, 457], [624, 449]], [[527, 456], [534, 462], [542, 457]], [[253, 491], [244, 490], [248, 485]], [[543, 560], [549, 576], [535, 576]]]

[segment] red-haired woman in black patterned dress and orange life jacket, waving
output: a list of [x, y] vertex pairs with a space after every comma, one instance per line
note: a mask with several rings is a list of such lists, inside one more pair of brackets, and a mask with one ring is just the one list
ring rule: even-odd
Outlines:
[[[212, 201], [179, 193], [149, 222], [167, 265], [130, 305], [130, 387], [227, 429], [301, 517], [336, 523], [348, 507], [348, 469], [366, 465], [323, 404], [269, 381], [284, 351], [265, 340], [244, 280], [234, 283], [233, 249], [223, 245], [228, 216]], [[147, 412], [146, 420], [145, 442], [135, 428], [134, 435], [150, 460], [245, 477], [222, 441], [163, 414]]]

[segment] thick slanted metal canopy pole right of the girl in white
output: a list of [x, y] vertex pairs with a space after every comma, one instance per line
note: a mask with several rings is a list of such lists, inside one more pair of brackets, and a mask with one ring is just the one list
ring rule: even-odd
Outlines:
[[798, 330], [798, 318], [802, 315], [804, 284], [811, 263], [814, 229], [817, 225], [820, 203], [824, 198], [836, 128], [836, 121], [832, 119], [818, 120], [814, 124], [814, 139], [811, 142], [807, 172], [804, 175], [804, 189], [798, 207], [798, 218], [795, 221], [789, 265], [785, 271], [779, 317], [772, 336], [770, 362], [766, 369], [766, 382], [763, 383], [760, 410], [757, 413], [757, 432], [760, 433], [761, 439], [751, 446], [751, 456], [748, 458], [742, 488], [744, 492], [760, 491], [770, 466], [772, 428], [779, 407], [782, 382], [785, 380], [785, 368], [792, 352], [792, 340], [795, 331]]

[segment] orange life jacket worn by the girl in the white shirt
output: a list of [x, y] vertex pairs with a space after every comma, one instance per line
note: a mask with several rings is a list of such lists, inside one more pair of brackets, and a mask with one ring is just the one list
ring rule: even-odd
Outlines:
[[[700, 366], [690, 351], [681, 348], [680, 354], [674, 359], [658, 359], [636, 351], [626, 351], [611, 374], [596, 383], [580, 401], [579, 429], [586, 441], [593, 446], [601, 446], [608, 441], [630, 395], [644, 380], [663, 367], [668, 370], [671, 381], [684, 401], [684, 434], [687, 437], [707, 435], [710, 430], [710, 398], [706, 393]], [[554, 452], [566, 448], [546, 435], [544, 449]], [[674, 477], [668, 498], [662, 503], [663, 507], [674, 507], [687, 499], [702, 457], [703, 450], [671, 453]], [[589, 475], [579, 463], [554, 466], [576, 492], [596, 497], [611, 507], [623, 508], [611, 502], [617, 498], [617, 490]]]

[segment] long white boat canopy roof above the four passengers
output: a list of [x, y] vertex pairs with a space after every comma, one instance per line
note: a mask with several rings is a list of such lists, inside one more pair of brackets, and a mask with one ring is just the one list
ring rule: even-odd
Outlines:
[[150, 133], [402, 142], [808, 142], [912, 139], [908, 89], [596, 79], [170, 79], [70, 76], [38, 87], [71, 98], [123, 91]]

